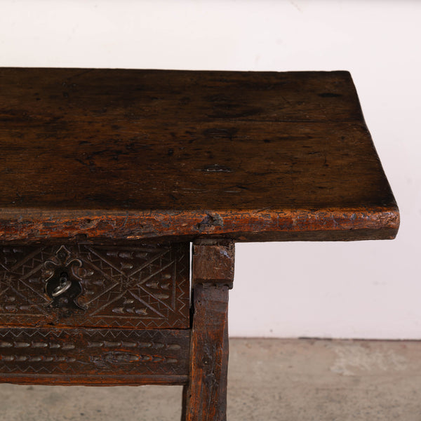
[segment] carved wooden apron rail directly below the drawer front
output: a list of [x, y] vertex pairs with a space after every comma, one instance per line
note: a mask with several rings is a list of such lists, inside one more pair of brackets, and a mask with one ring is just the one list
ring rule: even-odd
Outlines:
[[0, 374], [187, 375], [189, 335], [183, 329], [0, 328]]

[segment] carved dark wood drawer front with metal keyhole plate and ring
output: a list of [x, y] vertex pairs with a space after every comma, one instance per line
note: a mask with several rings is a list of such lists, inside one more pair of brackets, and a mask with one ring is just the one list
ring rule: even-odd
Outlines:
[[0, 325], [189, 328], [188, 243], [0, 250]]

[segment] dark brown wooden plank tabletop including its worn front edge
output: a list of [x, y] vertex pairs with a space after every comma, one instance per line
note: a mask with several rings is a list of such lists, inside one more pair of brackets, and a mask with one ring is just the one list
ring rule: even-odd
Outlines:
[[389, 239], [348, 72], [0, 69], [0, 241]]

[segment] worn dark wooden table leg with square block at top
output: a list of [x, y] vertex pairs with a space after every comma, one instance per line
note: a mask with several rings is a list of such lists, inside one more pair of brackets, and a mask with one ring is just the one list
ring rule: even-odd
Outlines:
[[[234, 244], [196, 243], [194, 250], [190, 372], [183, 393], [182, 421], [225, 421], [228, 290], [234, 277]], [[205, 262], [208, 259], [210, 262]], [[206, 276], [201, 272], [203, 267]]]

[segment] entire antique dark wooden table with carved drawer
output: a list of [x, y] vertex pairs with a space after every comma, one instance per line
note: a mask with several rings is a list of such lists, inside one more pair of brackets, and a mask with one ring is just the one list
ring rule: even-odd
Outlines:
[[3, 382], [182, 384], [185, 420], [225, 420], [234, 242], [398, 230], [347, 72], [4, 68], [0, 86]]

